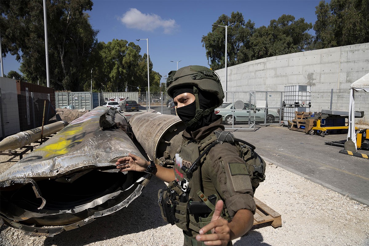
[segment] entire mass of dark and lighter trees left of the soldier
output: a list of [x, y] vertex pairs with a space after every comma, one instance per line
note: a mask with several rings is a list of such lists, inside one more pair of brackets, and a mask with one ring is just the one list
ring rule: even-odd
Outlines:
[[[147, 90], [147, 54], [126, 40], [98, 42], [86, 13], [92, 6], [91, 0], [46, 1], [51, 87], [90, 91], [92, 83], [94, 91]], [[3, 56], [16, 55], [24, 79], [46, 85], [42, 1], [2, 0], [0, 13]], [[150, 89], [157, 91], [161, 75], [152, 66], [149, 61]]]

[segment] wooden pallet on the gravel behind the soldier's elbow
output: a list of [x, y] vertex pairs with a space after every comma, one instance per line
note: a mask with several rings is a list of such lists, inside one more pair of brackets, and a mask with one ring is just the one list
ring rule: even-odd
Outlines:
[[282, 217], [264, 202], [254, 197], [256, 212], [254, 214], [254, 225], [272, 222], [271, 225], [276, 228], [282, 226]]

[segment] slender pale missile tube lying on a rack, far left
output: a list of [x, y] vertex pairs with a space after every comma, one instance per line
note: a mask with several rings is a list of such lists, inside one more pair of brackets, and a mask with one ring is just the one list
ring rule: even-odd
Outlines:
[[[60, 131], [67, 125], [66, 121], [58, 121], [48, 125], [44, 125], [42, 137], [49, 136], [55, 132]], [[17, 134], [7, 136], [0, 142], [0, 151], [14, 150], [22, 148], [25, 145], [33, 143], [41, 139], [42, 127], [37, 127], [28, 131], [19, 132]]]

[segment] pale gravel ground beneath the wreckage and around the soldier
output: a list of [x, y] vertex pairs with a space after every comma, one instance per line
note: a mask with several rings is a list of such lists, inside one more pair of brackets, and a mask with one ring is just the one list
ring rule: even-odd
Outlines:
[[[0, 156], [0, 172], [19, 157]], [[157, 205], [164, 183], [155, 177], [127, 208], [54, 238], [30, 237], [4, 225], [0, 245], [182, 245], [182, 231], [165, 224]], [[268, 163], [255, 197], [282, 215], [282, 226], [254, 226], [234, 245], [369, 245], [369, 208], [297, 174]]]

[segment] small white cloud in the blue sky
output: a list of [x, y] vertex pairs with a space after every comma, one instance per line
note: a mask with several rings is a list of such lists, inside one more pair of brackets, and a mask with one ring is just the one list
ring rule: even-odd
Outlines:
[[163, 28], [165, 34], [169, 34], [177, 27], [175, 20], [163, 20], [159, 15], [144, 14], [137, 8], [131, 8], [125, 12], [120, 20], [128, 28], [137, 28], [144, 31]]

